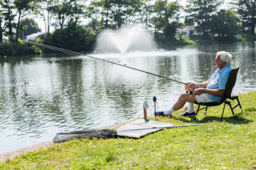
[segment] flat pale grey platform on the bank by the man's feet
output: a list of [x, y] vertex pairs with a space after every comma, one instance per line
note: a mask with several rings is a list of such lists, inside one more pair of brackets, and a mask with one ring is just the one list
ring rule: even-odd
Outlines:
[[118, 136], [140, 138], [144, 135], [151, 134], [174, 125], [175, 124], [156, 122], [148, 119], [138, 119], [119, 127], [116, 131]]

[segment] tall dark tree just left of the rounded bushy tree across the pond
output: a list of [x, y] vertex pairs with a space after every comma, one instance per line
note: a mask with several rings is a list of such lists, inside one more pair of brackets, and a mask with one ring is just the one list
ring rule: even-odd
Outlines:
[[210, 31], [210, 23], [213, 14], [216, 14], [221, 0], [187, 0], [185, 12], [186, 22], [197, 24], [198, 32], [203, 32], [204, 36], [208, 36]]

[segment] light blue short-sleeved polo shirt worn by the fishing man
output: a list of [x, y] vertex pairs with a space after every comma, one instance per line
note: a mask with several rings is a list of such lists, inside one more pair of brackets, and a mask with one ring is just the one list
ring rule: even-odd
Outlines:
[[[226, 82], [228, 81], [229, 73], [231, 72], [232, 67], [230, 65], [223, 67], [221, 70], [217, 69], [215, 73], [209, 79], [209, 84], [206, 86], [206, 89], [219, 89], [223, 90], [226, 88]], [[211, 100], [220, 101], [221, 96], [213, 96], [206, 94]]]

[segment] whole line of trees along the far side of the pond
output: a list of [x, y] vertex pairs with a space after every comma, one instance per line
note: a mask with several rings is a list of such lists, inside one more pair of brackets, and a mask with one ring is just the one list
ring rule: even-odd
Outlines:
[[[256, 0], [233, 1], [229, 4], [229, 9], [221, 9], [223, 0], [187, 0], [185, 7], [178, 2], [0, 0], [0, 42], [3, 33], [8, 37], [15, 37], [13, 41], [18, 42], [20, 33], [28, 28], [21, 21], [28, 16], [43, 19], [48, 37], [45, 41], [58, 47], [67, 46], [67, 41], [63, 40], [67, 35], [74, 35], [72, 38], [68, 37], [68, 40], [77, 38], [87, 44], [85, 46], [89, 46], [103, 29], [119, 29], [138, 23], [155, 36], [161, 32], [166, 39], [174, 39], [177, 28], [182, 25], [195, 25], [196, 32], [202, 33], [204, 37], [217, 35], [220, 39], [226, 39], [241, 31], [242, 27], [249, 27], [250, 34], [255, 35]], [[82, 24], [85, 19], [89, 24]], [[50, 33], [51, 26], [55, 28], [53, 33]], [[78, 44], [77, 40], [73, 41], [76, 42], [71, 42], [71, 46]]]

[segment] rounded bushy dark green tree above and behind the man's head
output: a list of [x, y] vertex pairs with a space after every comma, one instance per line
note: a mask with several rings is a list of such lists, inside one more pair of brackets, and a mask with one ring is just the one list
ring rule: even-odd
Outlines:
[[222, 9], [213, 15], [210, 29], [213, 34], [218, 34], [218, 37], [232, 37], [239, 31], [240, 26], [240, 20], [235, 11]]

